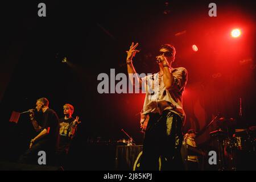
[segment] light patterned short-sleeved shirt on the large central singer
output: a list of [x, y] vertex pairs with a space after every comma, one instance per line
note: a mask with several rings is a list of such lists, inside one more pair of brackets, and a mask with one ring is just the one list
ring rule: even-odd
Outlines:
[[171, 68], [171, 73], [174, 77], [174, 88], [171, 90], [166, 89], [163, 76], [159, 77], [159, 72], [142, 78], [142, 85], [146, 88], [143, 114], [162, 114], [164, 110], [170, 109], [185, 118], [182, 95], [188, 80], [187, 70], [183, 67]]

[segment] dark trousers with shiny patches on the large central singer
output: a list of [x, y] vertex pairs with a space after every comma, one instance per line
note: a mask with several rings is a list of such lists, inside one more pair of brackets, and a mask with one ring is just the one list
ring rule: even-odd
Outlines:
[[150, 113], [143, 143], [142, 170], [182, 170], [180, 148], [183, 120], [166, 110], [162, 115]]

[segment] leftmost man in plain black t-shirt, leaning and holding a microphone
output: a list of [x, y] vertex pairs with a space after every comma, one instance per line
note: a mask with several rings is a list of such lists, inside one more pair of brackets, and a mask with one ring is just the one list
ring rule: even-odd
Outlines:
[[47, 98], [39, 98], [36, 101], [36, 111], [42, 113], [40, 120], [35, 118], [34, 109], [28, 111], [32, 126], [38, 134], [31, 139], [28, 150], [20, 156], [18, 162], [38, 164], [38, 152], [44, 151], [48, 164], [51, 161], [49, 158], [54, 154], [59, 143], [59, 117], [54, 110], [49, 109]]

